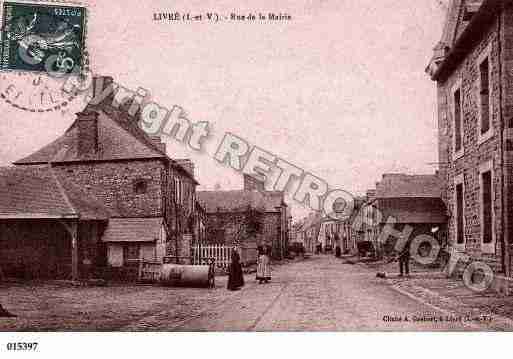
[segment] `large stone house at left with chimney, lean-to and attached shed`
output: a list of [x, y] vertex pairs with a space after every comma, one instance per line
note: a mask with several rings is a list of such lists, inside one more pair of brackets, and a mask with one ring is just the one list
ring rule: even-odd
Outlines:
[[[10, 181], [9, 191], [18, 193], [0, 193], [0, 238], [11, 248], [9, 255], [1, 252], [0, 265], [27, 262], [31, 247], [19, 238], [37, 240], [46, 227], [57, 231], [62, 243], [45, 235], [48, 245], [41, 253], [58, 248], [55, 256], [71, 268], [65, 277], [74, 279], [91, 263], [122, 268], [131, 260], [189, 255], [184, 239], [195, 232], [197, 182], [166, 154], [159, 138], [139, 128], [137, 115], [114, 106], [113, 98], [87, 105], [62, 136], [0, 172], [0, 181]], [[52, 193], [55, 203], [48, 198]], [[25, 209], [24, 202], [33, 206]], [[71, 231], [61, 228], [63, 218], [65, 228], [73, 224]], [[27, 225], [36, 219], [41, 226]]]

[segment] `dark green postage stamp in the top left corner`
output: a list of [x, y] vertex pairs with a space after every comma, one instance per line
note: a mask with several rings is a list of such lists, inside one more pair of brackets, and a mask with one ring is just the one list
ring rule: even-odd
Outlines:
[[0, 70], [80, 71], [85, 7], [5, 2], [2, 13]]

